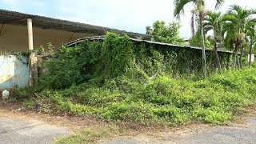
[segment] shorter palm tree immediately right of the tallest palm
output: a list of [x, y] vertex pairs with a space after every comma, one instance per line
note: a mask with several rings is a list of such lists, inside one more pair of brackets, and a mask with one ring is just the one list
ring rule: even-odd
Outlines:
[[222, 72], [221, 62], [218, 57], [218, 43], [222, 42], [222, 13], [218, 12], [207, 12], [206, 17], [203, 21], [203, 28], [205, 34], [213, 30], [214, 31], [214, 53], [216, 57], [216, 63], [218, 65], [218, 70]]

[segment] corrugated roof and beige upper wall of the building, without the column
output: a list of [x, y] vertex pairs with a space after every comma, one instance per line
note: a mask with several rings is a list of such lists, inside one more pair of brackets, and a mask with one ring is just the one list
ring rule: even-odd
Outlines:
[[48, 42], [52, 42], [55, 47], [60, 47], [66, 42], [78, 38], [106, 34], [107, 31], [127, 34], [132, 38], [146, 36], [146, 34], [126, 32], [108, 27], [0, 10], [0, 51], [29, 50], [28, 26], [33, 29], [31, 37], [34, 48], [39, 46], [46, 47]]

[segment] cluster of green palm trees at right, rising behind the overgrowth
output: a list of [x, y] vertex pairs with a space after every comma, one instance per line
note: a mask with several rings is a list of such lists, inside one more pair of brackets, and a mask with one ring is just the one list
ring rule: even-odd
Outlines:
[[[222, 6], [223, 2], [224, 0], [217, 0], [215, 10], [218, 10], [218, 8]], [[224, 44], [226, 50], [234, 50], [233, 67], [234, 69], [236, 67], [238, 67], [238, 69], [242, 68], [242, 56], [238, 56], [238, 51], [243, 53], [243, 51], [247, 48], [247, 50], [250, 51], [249, 53], [251, 56], [253, 46], [256, 46], [254, 41], [256, 21], [255, 18], [252, 17], [252, 15], [256, 14], [256, 10], [242, 8], [241, 6], [234, 4], [233, 6], [230, 6], [230, 9], [227, 10], [226, 14], [222, 15], [218, 12], [210, 12], [209, 10], [206, 10], [206, 0], [175, 0], [174, 16], [176, 18], [180, 18], [180, 15], [184, 14], [185, 6], [188, 4], [192, 4], [194, 8], [191, 10], [191, 44], [201, 44], [202, 46], [202, 67], [204, 78], [206, 77], [207, 69], [205, 46], [207, 42], [209, 42], [209, 37], [206, 37], [206, 34], [209, 30], [213, 31], [213, 34], [211, 35], [211, 42], [214, 43], [216, 62], [218, 64], [219, 72], [222, 71], [222, 66], [218, 57], [218, 43]], [[198, 26], [197, 34], [195, 34], [195, 24]], [[199, 34], [200, 37], [198, 37]]]

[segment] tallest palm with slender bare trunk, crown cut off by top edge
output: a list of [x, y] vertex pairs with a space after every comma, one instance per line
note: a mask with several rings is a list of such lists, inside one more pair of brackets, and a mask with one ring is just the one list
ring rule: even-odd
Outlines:
[[[222, 2], [224, 0], [216, 0], [216, 6], [217, 9], [219, 6], [221, 6]], [[206, 50], [205, 50], [205, 40], [204, 40], [204, 34], [203, 34], [203, 27], [202, 27], [202, 20], [205, 16], [205, 0], [174, 0], [174, 16], [176, 18], [180, 18], [181, 14], [184, 14], [184, 6], [187, 4], [192, 3], [194, 5], [194, 10], [198, 11], [199, 14], [199, 23], [200, 23], [200, 29], [201, 29], [201, 40], [202, 40], [202, 68], [203, 68], [203, 77], [206, 78]]]

